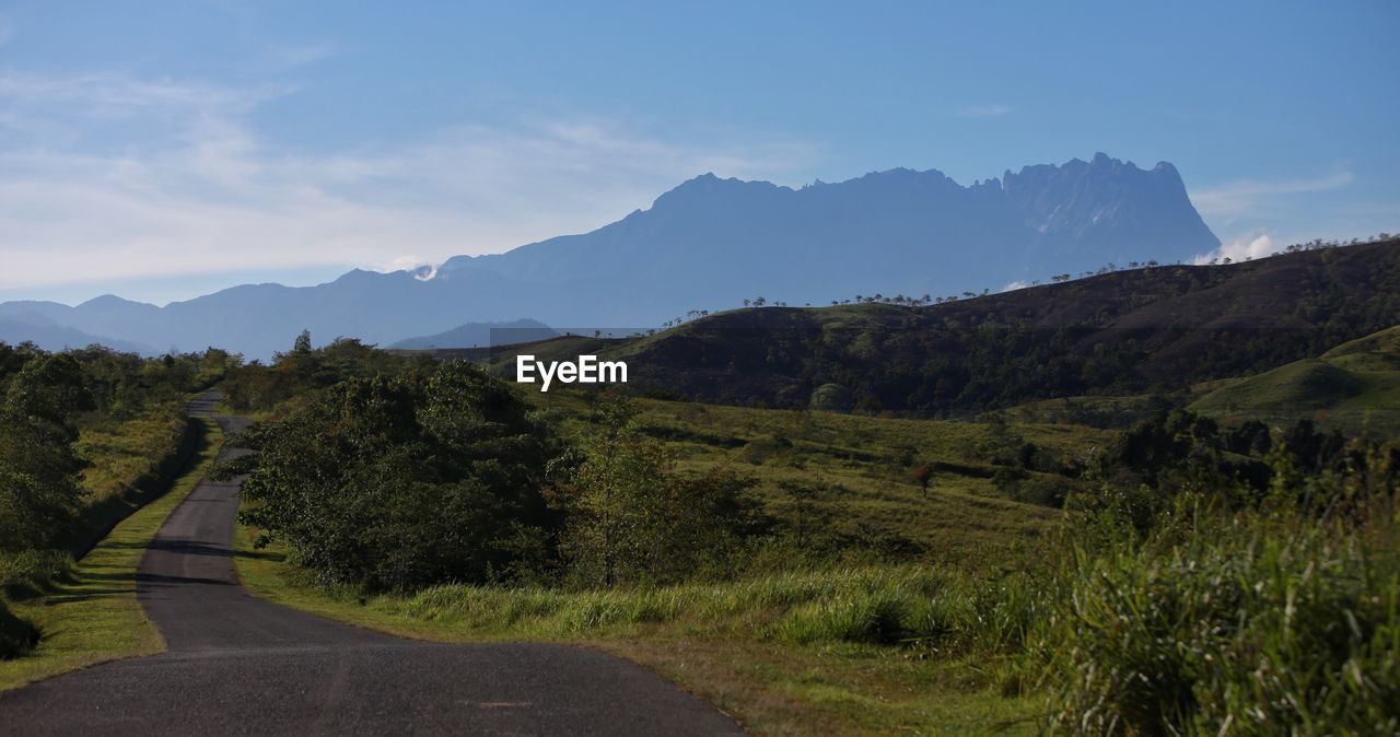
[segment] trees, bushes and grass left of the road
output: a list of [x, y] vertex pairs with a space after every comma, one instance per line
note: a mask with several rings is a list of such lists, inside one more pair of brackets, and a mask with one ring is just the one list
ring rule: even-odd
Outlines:
[[[50, 354], [0, 344], [4, 673], [52, 673], [56, 660], [48, 654], [67, 647], [62, 638], [88, 627], [98, 632], [94, 638], [112, 639], [113, 653], [129, 649], [123, 638], [147, 636], [139, 635], [148, 627], [134, 589], [122, 599], [120, 589], [95, 583], [118, 576], [113, 566], [126, 562], [134, 576], [139, 550], [126, 561], [125, 554], [94, 545], [165, 494], [200, 452], [206, 431], [185, 417], [185, 400], [223, 378], [232, 362], [217, 350], [143, 359], [97, 347]], [[83, 592], [73, 593], [74, 586]], [[104, 629], [109, 611], [95, 601], [105, 601], [106, 594], [125, 601], [116, 608], [130, 610], [134, 618]], [[15, 666], [11, 659], [18, 659]]]

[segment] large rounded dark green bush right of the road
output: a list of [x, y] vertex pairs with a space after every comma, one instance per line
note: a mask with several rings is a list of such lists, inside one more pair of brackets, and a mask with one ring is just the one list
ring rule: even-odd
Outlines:
[[349, 379], [248, 438], [242, 517], [330, 582], [494, 580], [552, 555], [554, 432], [468, 364]]

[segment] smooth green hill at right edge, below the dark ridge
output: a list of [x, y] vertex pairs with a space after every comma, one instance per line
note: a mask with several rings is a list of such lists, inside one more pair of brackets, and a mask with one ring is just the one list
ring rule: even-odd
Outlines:
[[1217, 418], [1310, 418], [1347, 432], [1400, 434], [1400, 327], [1273, 371], [1218, 382], [1191, 404]]

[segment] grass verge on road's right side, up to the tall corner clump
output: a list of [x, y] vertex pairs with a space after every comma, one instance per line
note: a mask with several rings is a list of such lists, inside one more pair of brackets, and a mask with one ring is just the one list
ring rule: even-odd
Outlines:
[[263, 599], [407, 638], [598, 647], [658, 671], [755, 734], [1029, 734], [1043, 705], [1004, 696], [995, 663], [955, 654], [960, 646], [899, 642], [895, 631], [984, 628], [972, 582], [916, 568], [636, 592], [441, 586], [360, 597], [315, 586], [280, 548], [253, 550], [255, 538], [238, 529], [235, 566]]

